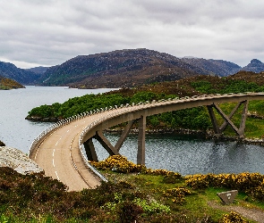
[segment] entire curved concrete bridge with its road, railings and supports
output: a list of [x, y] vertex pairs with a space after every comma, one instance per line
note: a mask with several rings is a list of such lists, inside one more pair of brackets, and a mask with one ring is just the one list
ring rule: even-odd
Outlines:
[[[248, 103], [251, 100], [264, 100], [264, 93], [192, 96], [84, 112], [81, 115], [59, 121], [39, 134], [30, 147], [29, 156], [45, 170], [47, 176], [62, 181], [69, 187], [69, 190], [93, 188], [98, 186], [101, 180], [106, 181], [106, 178], [89, 165], [82, 153], [81, 146], [84, 145], [88, 160], [98, 161], [92, 138], [96, 138], [110, 155], [119, 154], [132, 124], [139, 121], [137, 162], [145, 164], [147, 116], [166, 111], [207, 106], [217, 134], [222, 133], [226, 126], [230, 125], [238, 136], [243, 136]], [[220, 103], [237, 103], [237, 105], [230, 114], [226, 115], [219, 108]], [[243, 106], [242, 119], [237, 128], [231, 119], [241, 106]], [[217, 125], [214, 111], [217, 111], [224, 119], [221, 126]], [[103, 135], [103, 131], [123, 122], [128, 122], [128, 124], [122, 136], [116, 145], [111, 145]]]

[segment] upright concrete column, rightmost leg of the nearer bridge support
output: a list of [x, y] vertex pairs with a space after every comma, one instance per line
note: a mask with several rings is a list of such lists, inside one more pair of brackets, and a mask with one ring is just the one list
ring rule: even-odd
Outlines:
[[139, 139], [137, 164], [145, 165], [145, 138], [146, 138], [146, 116], [139, 120]]

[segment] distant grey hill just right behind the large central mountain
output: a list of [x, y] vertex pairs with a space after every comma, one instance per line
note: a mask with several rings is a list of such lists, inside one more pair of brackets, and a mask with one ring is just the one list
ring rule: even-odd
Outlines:
[[210, 75], [216, 75], [220, 77], [226, 77], [241, 70], [241, 67], [234, 62], [212, 59], [206, 60], [203, 58], [192, 57], [183, 57], [182, 60], [183, 62], [192, 64], [192, 66], [199, 67], [201, 70], [204, 70], [204, 72], [209, 72]]

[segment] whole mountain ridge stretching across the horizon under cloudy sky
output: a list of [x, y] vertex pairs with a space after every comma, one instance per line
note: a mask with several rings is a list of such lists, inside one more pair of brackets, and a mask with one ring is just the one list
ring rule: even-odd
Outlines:
[[137, 87], [196, 75], [226, 77], [240, 70], [260, 72], [264, 63], [251, 60], [245, 67], [224, 60], [178, 58], [145, 48], [78, 55], [60, 65], [27, 70], [0, 62], [0, 75], [26, 85], [77, 88]]

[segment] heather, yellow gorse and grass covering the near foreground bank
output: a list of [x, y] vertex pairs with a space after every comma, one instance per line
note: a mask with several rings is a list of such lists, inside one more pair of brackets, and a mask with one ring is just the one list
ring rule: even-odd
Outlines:
[[121, 156], [92, 164], [109, 182], [81, 192], [67, 192], [43, 173], [21, 175], [0, 168], [0, 222], [247, 222], [238, 213], [209, 205], [222, 206], [217, 192], [229, 189], [239, 189], [232, 208], [264, 208], [260, 174], [183, 177]]

